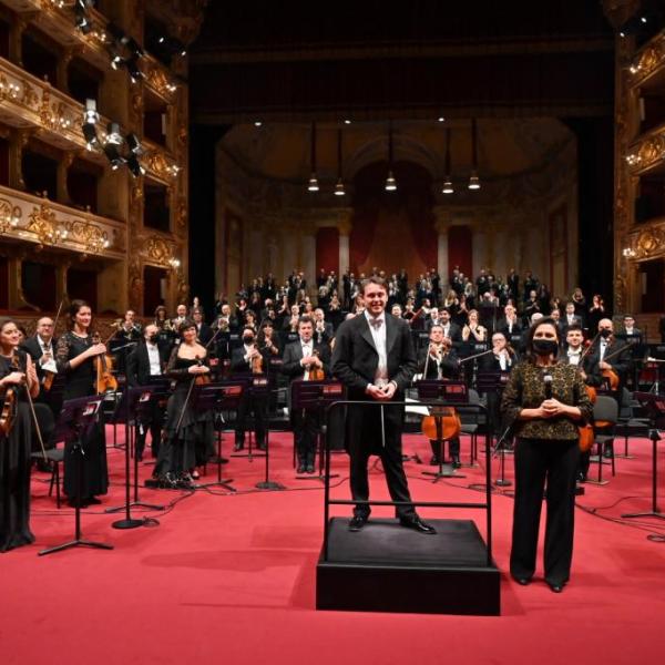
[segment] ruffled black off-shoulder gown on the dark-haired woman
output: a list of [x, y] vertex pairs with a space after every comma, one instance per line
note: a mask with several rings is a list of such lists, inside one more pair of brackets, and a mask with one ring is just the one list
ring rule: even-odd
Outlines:
[[[193, 375], [188, 369], [197, 365], [197, 360], [181, 358], [177, 350], [173, 350], [166, 367], [166, 376], [175, 380], [175, 388], [166, 406], [165, 441], [160, 447], [154, 471], [154, 475], [167, 485], [190, 481], [190, 471], [209, 459], [215, 436], [213, 412], [200, 411], [196, 387], [191, 390]], [[207, 359], [204, 362], [207, 364]]]

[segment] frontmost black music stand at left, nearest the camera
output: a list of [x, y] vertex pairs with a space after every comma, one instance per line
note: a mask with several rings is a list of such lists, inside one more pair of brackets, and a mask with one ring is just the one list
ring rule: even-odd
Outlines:
[[81, 397], [78, 399], [68, 399], [62, 405], [62, 411], [55, 426], [54, 436], [55, 440], [64, 439], [65, 446], [68, 441], [73, 441], [73, 444], [69, 451], [69, 454], [75, 456], [75, 508], [74, 508], [74, 540], [55, 545], [54, 548], [48, 548], [38, 553], [39, 556], [45, 554], [52, 554], [53, 552], [61, 552], [62, 550], [69, 550], [70, 548], [85, 546], [95, 548], [98, 550], [113, 550], [113, 545], [106, 543], [96, 543], [81, 538], [81, 463], [85, 456], [83, 450], [82, 437], [85, 432], [94, 427], [96, 423], [99, 412], [102, 408], [104, 397], [95, 395], [94, 397]]

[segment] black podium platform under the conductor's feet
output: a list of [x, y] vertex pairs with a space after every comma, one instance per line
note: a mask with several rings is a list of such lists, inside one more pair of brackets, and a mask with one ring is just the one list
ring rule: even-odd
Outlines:
[[471, 520], [428, 520], [436, 535], [371, 519], [332, 518], [316, 572], [317, 610], [499, 615], [500, 574]]

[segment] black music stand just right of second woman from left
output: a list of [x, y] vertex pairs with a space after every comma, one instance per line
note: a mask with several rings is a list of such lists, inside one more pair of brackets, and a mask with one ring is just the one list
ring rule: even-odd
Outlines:
[[131, 500], [131, 473], [130, 473], [130, 451], [133, 447], [133, 431], [130, 428], [130, 422], [136, 422], [141, 419], [142, 410], [144, 410], [152, 400], [155, 399], [155, 386], [139, 386], [136, 388], [127, 388], [120, 399], [115, 413], [115, 422], [122, 422], [125, 430], [125, 502], [116, 508], [108, 508], [105, 512], [114, 513], [121, 510], [125, 511], [125, 519], [113, 522], [113, 529], [136, 529], [136, 526], [145, 526], [146, 524], [156, 524], [154, 520], [136, 520], [133, 519], [130, 509], [133, 505], [149, 508], [152, 510], [164, 510], [163, 505], [154, 505], [152, 503], [142, 503], [139, 501], [139, 456], [134, 450], [134, 501]]

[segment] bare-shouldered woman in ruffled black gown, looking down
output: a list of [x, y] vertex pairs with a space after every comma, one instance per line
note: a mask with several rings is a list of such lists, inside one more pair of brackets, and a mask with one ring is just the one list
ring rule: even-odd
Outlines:
[[205, 464], [214, 447], [213, 413], [198, 412], [192, 398], [196, 379], [209, 376], [207, 350], [196, 341], [194, 321], [183, 321], [180, 334], [183, 340], [166, 367], [166, 376], [176, 385], [166, 406], [166, 439], [154, 471], [162, 487], [170, 489], [191, 488], [192, 472]]

